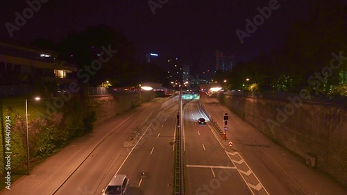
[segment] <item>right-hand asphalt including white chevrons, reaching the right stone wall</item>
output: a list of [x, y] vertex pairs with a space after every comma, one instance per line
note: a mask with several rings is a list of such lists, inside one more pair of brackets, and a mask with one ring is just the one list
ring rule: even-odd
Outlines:
[[[239, 175], [244, 178], [244, 185], [252, 189], [252, 194], [264, 194], [264, 189], [269, 194], [347, 194], [334, 180], [271, 142], [260, 130], [243, 121], [217, 99], [203, 94], [200, 101], [220, 127], [223, 127], [223, 112], [228, 112], [227, 140], [220, 137], [220, 141]], [[231, 147], [229, 142], [232, 142]]]

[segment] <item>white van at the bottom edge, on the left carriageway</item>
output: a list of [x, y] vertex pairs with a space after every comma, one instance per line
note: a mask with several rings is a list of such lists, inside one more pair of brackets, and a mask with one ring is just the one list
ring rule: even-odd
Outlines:
[[102, 195], [108, 195], [108, 194], [117, 194], [117, 195], [126, 195], [128, 194], [129, 190], [129, 179], [126, 175], [115, 175], [113, 176], [110, 183], [108, 183], [108, 186], [103, 189]]

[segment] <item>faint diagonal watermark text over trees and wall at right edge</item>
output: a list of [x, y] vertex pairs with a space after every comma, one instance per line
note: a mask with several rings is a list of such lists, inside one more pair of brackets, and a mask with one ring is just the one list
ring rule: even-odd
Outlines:
[[[344, 64], [343, 60], [347, 61], [347, 57], [342, 56], [342, 53], [344, 52], [340, 51], [339, 56], [336, 53], [331, 53], [332, 59], [330, 60], [330, 64], [323, 67], [323, 69], [321, 69], [321, 72], [314, 72], [314, 76], [312, 75], [307, 78], [309, 87], [312, 87], [315, 91], [319, 90], [319, 87], [323, 85], [324, 77], [328, 78], [332, 76], [333, 71], [338, 70], [341, 65]], [[336, 61], [338, 63], [335, 63]], [[276, 108], [276, 121], [273, 121], [272, 119], [266, 119], [266, 123], [269, 126], [271, 132], [273, 132], [273, 128], [275, 128], [275, 126], [279, 127], [282, 123], [287, 121], [288, 117], [294, 114], [295, 108], [299, 108], [302, 105], [303, 100], [310, 99], [310, 97], [310, 92], [305, 89], [301, 90], [298, 96], [289, 96], [287, 99], [290, 103], [285, 105], [285, 108], [283, 108], [283, 110]]]

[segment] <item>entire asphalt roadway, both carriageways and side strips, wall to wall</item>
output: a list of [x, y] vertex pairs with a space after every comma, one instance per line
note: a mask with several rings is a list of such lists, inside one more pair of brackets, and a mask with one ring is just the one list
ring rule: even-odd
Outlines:
[[[178, 103], [170, 107], [164, 100], [144, 103], [96, 126], [1, 194], [101, 194], [115, 173], [130, 178], [128, 195], [172, 194]], [[217, 99], [203, 94], [200, 103], [190, 101], [184, 110], [186, 194], [347, 194]], [[229, 115], [226, 140], [208, 119], [222, 127], [223, 112]], [[199, 125], [200, 117], [207, 124]], [[130, 140], [138, 127], [142, 133]]]

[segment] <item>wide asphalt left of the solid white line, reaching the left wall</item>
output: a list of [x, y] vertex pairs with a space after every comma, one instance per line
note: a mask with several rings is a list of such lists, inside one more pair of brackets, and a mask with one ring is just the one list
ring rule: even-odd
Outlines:
[[124, 144], [164, 100], [153, 99], [96, 126], [1, 194], [101, 194], [130, 153]]

